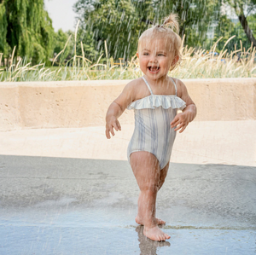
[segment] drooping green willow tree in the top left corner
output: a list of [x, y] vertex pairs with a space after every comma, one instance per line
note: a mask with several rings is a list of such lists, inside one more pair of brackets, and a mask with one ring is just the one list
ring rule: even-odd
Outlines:
[[15, 56], [33, 63], [48, 61], [52, 55], [54, 29], [44, 0], [0, 0], [0, 50], [16, 46]]

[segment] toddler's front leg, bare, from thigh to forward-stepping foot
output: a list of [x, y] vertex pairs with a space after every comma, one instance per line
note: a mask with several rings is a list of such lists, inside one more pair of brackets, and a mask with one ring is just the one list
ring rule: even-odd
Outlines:
[[153, 154], [148, 152], [132, 153], [130, 162], [141, 190], [138, 200], [138, 216], [143, 220], [143, 233], [154, 241], [165, 241], [170, 236], [159, 229], [155, 218], [155, 201], [160, 188], [161, 176], [159, 162]]

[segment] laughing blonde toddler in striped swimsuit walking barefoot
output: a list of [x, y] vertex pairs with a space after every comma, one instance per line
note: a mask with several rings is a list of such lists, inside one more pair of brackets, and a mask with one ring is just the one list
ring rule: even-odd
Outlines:
[[118, 118], [125, 109], [134, 110], [135, 129], [127, 153], [140, 188], [135, 221], [144, 225], [143, 234], [154, 241], [170, 238], [158, 227], [166, 222], [155, 217], [156, 195], [166, 179], [176, 131], [183, 132], [196, 115], [183, 82], [168, 76], [182, 57], [178, 27], [177, 14], [170, 14], [161, 26], [143, 32], [137, 57], [144, 75], [125, 86], [106, 116], [109, 139], [113, 129], [121, 130]]

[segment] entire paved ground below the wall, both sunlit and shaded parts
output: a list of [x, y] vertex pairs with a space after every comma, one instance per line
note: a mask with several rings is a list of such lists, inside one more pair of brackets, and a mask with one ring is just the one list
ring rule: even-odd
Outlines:
[[157, 203], [166, 242], [134, 222], [130, 125], [110, 141], [103, 127], [0, 133], [0, 254], [255, 254], [255, 123], [177, 136]]

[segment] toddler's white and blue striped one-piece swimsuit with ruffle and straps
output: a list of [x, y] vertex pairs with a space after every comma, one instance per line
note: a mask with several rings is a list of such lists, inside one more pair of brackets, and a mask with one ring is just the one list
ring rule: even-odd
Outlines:
[[138, 151], [146, 151], [154, 154], [159, 160], [160, 169], [163, 169], [170, 161], [172, 145], [176, 131], [171, 128], [172, 119], [177, 114], [177, 109], [183, 110], [186, 103], [175, 95], [154, 95], [148, 81], [143, 77], [148, 86], [150, 96], [137, 101], [132, 101], [127, 109], [134, 109], [135, 128], [127, 149], [127, 157], [130, 163], [130, 155]]

